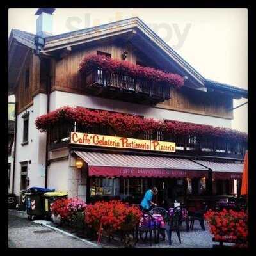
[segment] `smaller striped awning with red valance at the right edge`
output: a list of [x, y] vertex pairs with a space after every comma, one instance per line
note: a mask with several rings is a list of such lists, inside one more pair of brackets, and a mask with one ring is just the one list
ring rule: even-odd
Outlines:
[[216, 180], [241, 179], [243, 175], [243, 164], [241, 163], [218, 163], [204, 160], [195, 160], [195, 162], [211, 169], [212, 178]]

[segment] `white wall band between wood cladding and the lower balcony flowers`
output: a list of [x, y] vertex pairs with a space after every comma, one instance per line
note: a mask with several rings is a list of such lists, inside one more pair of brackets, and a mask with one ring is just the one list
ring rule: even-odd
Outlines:
[[88, 95], [79, 95], [54, 91], [51, 93], [50, 111], [61, 106], [81, 106], [84, 108], [104, 109], [109, 111], [118, 111], [123, 113], [132, 113], [144, 115], [155, 119], [169, 119], [182, 122], [191, 122], [196, 124], [206, 124], [220, 127], [231, 128], [231, 120], [213, 116], [196, 115], [168, 109], [154, 108], [142, 104], [132, 104], [117, 100], [104, 99]]

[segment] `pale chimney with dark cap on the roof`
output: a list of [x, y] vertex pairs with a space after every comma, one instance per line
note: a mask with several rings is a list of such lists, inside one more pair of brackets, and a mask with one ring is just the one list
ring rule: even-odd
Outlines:
[[52, 35], [52, 20], [55, 8], [39, 8], [35, 15], [39, 15], [36, 20], [36, 35], [42, 38]]

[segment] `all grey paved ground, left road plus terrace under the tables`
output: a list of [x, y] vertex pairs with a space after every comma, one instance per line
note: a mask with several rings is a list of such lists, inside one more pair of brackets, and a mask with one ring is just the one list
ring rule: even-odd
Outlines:
[[[39, 222], [48, 223], [52, 227], [54, 226], [53, 224], [49, 224], [49, 221]], [[52, 230], [52, 228], [45, 227], [45, 225], [12, 214], [9, 214], [8, 227], [8, 244], [10, 248], [97, 248], [95, 243], [92, 244], [86, 240], [81, 241]], [[161, 241], [159, 244], [153, 243], [152, 248], [212, 248], [212, 235], [209, 233], [209, 227], [207, 225], [205, 225], [205, 228], [206, 230], [203, 231], [198, 221], [196, 221], [195, 229], [186, 232], [185, 225], [182, 225], [180, 234], [182, 239], [181, 244], [177, 239], [177, 234], [173, 232], [172, 246], [168, 244], [168, 241]], [[108, 239], [104, 239], [103, 237], [100, 244], [104, 248], [124, 247], [124, 244], [120, 243], [120, 241], [111, 241], [111, 243], [108, 243]], [[136, 247], [148, 248], [150, 246], [149, 243], [140, 241]]]

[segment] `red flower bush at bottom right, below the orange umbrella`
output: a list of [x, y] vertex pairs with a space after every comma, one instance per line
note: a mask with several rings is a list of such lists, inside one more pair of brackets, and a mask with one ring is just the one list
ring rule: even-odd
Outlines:
[[246, 244], [248, 237], [248, 216], [245, 212], [208, 211], [205, 213], [211, 233], [218, 241], [234, 241], [237, 244]]

